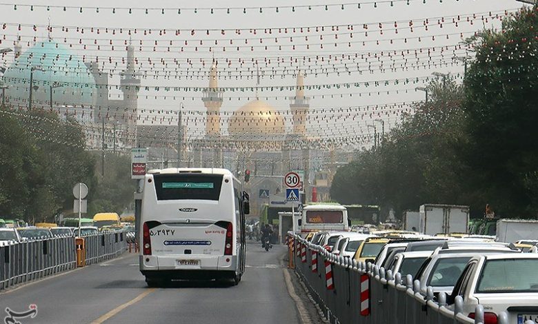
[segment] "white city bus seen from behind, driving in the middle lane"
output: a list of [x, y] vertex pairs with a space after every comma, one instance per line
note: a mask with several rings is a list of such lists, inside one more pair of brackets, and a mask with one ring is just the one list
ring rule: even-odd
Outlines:
[[151, 170], [143, 184], [140, 271], [157, 286], [171, 279], [231, 279], [245, 271], [241, 183], [225, 169]]

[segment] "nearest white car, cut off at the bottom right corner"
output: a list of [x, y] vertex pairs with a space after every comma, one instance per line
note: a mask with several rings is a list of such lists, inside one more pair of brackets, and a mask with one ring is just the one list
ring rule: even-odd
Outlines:
[[475, 316], [475, 307], [484, 306], [485, 323], [497, 323], [500, 312], [508, 323], [538, 320], [538, 255], [504, 253], [475, 256], [467, 263], [452, 294], [447, 298], [453, 310], [455, 297], [464, 300], [464, 314]]

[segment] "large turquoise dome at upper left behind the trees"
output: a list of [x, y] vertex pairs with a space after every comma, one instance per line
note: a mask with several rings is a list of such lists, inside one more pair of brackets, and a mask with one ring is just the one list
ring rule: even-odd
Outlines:
[[96, 85], [92, 73], [79, 55], [53, 39], [38, 42], [23, 52], [3, 74], [3, 83], [9, 86], [6, 101], [11, 105], [28, 107], [31, 67], [34, 68], [33, 107], [50, 106], [51, 85], [59, 85], [52, 89], [53, 107], [94, 105]]

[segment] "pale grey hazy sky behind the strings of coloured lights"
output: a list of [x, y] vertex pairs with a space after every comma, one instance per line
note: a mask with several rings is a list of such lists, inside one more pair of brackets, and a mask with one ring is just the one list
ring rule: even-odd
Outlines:
[[[305, 83], [306, 85], [323, 85], [332, 83], [363, 83], [370, 82], [370, 87], [365, 88], [361, 85], [359, 88], [341, 88], [341, 89], [321, 89], [314, 91], [306, 90], [306, 94], [312, 97], [310, 103], [312, 109], [320, 110], [321, 108], [328, 107], [357, 107], [362, 105], [381, 105], [385, 103], [409, 103], [411, 101], [424, 99], [424, 92], [415, 91], [415, 87], [424, 85], [427, 83], [427, 79], [424, 77], [431, 77], [431, 73], [444, 72], [455, 75], [459, 81], [461, 81], [461, 73], [463, 72], [463, 65], [459, 62], [452, 60], [454, 55], [464, 56], [465, 50], [457, 50], [453, 52], [455, 46], [459, 41], [459, 33], [463, 33], [465, 37], [470, 36], [472, 32], [481, 30], [484, 27], [490, 28], [492, 26], [498, 27], [500, 23], [495, 19], [488, 19], [486, 23], [480, 19], [481, 15], [489, 15], [489, 12], [496, 14], [503, 10], [515, 10], [521, 7], [521, 3], [515, 0], [426, 0], [423, 3], [422, 0], [410, 0], [409, 4], [406, 1], [395, 0], [393, 6], [390, 5], [390, 0], [377, 1], [377, 8], [374, 7], [372, 0], [357, 0], [357, 1], [15, 1], [18, 5], [17, 10], [14, 10], [13, 5], [6, 5], [5, 3], [0, 5], [0, 21], [8, 23], [8, 26], [2, 30], [2, 43], [0, 48], [11, 47], [17, 34], [21, 36], [23, 50], [28, 48], [27, 42], [32, 41], [33, 37], [37, 39], [43, 39], [46, 37], [46, 30], [43, 26], [50, 23], [52, 26], [70, 26], [69, 32], [62, 32], [61, 28], [55, 28], [52, 32], [52, 37], [59, 43], [66, 43], [66, 45], [72, 44], [72, 51], [77, 55], [87, 55], [88, 57], [95, 57], [98, 55], [101, 60], [108, 61], [108, 57], [112, 58], [113, 63], [105, 63], [104, 70], [112, 69], [114, 77], [110, 79], [110, 83], [118, 84], [119, 75], [118, 72], [123, 68], [123, 65], [116, 67], [114, 61], [120, 60], [125, 54], [124, 46], [120, 45], [121, 41], [128, 39], [128, 34], [123, 31], [122, 34], [119, 30], [116, 35], [112, 35], [103, 32], [104, 28], [123, 28], [141, 30], [143, 28], [152, 29], [152, 34], [144, 36], [141, 32], [132, 35], [133, 43], [139, 45], [139, 41], [143, 41], [143, 50], [139, 51], [139, 47], [135, 52], [136, 56], [140, 59], [140, 63], [144, 62], [142, 70], [147, 69], [148, 59], [153, 63], [157, 63], [156, 67], [161, 68], [164, 65], [159, 65], [159, 61], [163, 59], [168, 62], [168, 68], [165, 68], [166, 72], [161, 71], [146, 71], [148, 75], [142, 80], [142, 86], [151, 87], [150, 90], [142, 90], [139, 97], [139, 108], [144, 109], [162, 109], [172, 110], [179, 107], [179, 103], [183, 102], [187, 110], [203, 110], [203, 103], [201, 102], [200, 92], [165, 92], [162, 89], [156, 91], [156, 85], [170, 86], [170, 87], [205, 87], [208, 84], [207, 73], [209, 70], [209, 64], [212, 57], [219, 62], [219, 70], [221, 72], [219, 85], [223, 87], [242, 87], [253, 86], [256, 84], [256, 78], [252, 79], [250, 76], [255, 74], [255, 63], [248, 61], [243, 66], [239, 65], [239, 59], [255, 58], [259, 60], [260, 70], [264, 74], [260, 79], [260, 85], [295, 85], [295, 76], [286, 75], [285, 77], [277, 76], [271, 78], [271, 69], [277, 69], [279, 71], [286, 68], [287, 73], [292, 74], [297, 70], [299, 63], [290, 64], [290, 58], [292, 60], [299, 59], [300, 65], [303, 70], [306, 70]], [[73, 6], [76, 3], [77, 6], [83, 8], [83, 12], [79, 12], [78, 9], [67, 8], [63, 11], [63, 8], [46, 8], [41, 6]], [[341, 10], [341, 3], [351, 3], [344, 6], [344, 10]], [[357, 3], [361, 3], [361, 8], [357, 8]], [[34, 5], [33, 10], [30, 10], [28, 6]], [[223, 6], [226, 4], [226, 6]], [[301, 6], [315, 6], [317, 4], [337, 4], [338, 6], [330, 6], [328, 10], [325, 8], [313, 7], [310, 10]], [[90, 7], [100, 7], [99, 13], [96, 9], [89, 9]], [[133, 10], [131, 14], [128, 13], [126, 8], [146, 8], [150, 6], [155, 10], [148, 11], [148, 14], [144, 10]], [[199, 8], [197, 13], [194, 13], [194, 6]], [[292, 12], [290, 8], [279, 8], [279, 12], [276, 12], [275, 8], [264, 9], [263, 12], [259, 12], [257, 9], [248, 9], [246, 14], [243, 10], [231, 10], [230, 14], [226, 13], [226, 10], [214, 10], [211, 14], [208, 8], [243, 8], [244, 6], [256, 7], [256, 6], [297, 6], [295, 12]], [[117, 8], [116, 13], [112, 14], [112, 10], [105, 9], [106, 7]], [[181, 14], [177, 13], [177, 9], [168, 9], [165, 14], [161, 14], [161, 8], [181, 8]], [[188, 9], [190, 8], [190, 9]], [[206, 10], [203, 10], [206, 8]], [[466, 17], [470, 14], [477, 14], [477, 17], [472, 18], [472, 24], [466, 21]], [[452, 19], [457, 20], [457, 16], [460, 16], [458, 26], [452, 23]], [[443, 19], [443, 17], [445, 17]], [[461, 19], [464, 17], [465, 19]], [[424, 21], [428, 19], [428, 30], [424, 28]], [[412, 20], [413, 31], [410, 31], [409, 21]], [[444, 21], [442, 27], [438, 21]], [[396, 26], [395, 27], [395, 21]], [[18, 26], [11, 25], [10, 23], [23, 25], [28, 24], [30, 26], [22, 26], [19, 30]], [[381, 23], [381, 28], [379, 28]], [[31, 25], [37, 25], [37, 32], [34, 32]], [[368, 36], [364, 33], [363, 24], [368, 25]], [[347, 30], [341, 28], [339, 31], [332, 31], [327, 28], [323, 32], [315, 31], [315, 26], [333, 26], [333, 25], [352, 25], [354, 29]], [[84, 34], [76, 31], [75, 26], [94, 27], [94, 32], [86, 29]], [[306, 31], [306, 27], [310, 26], [310, 33]], [[278, 33], [278, 28], [290, 28], [288, 33]], [[296, 27], [295, 33], [292, 32], [292, 28]], [[299, 32], [299, 28], [305, 27], [303, 32]], [[100, 34], [97, 34], [97, 28], [100, 28]], [[183, 30], [181, 34], [175, 35], [173, 32], [168, 32], [166, 35], [160, 35], [157, 30], [161, 29], [169, 30]], [[272, 34], [263, 33], [263, 28], [271, 28]], [[226, 34], [221, 35], [220, 32], [210, 32], [210, 35], [206, 35], [204, 32], [197, 31], [195, 35], [191, 35], [186, 30], [192, 29], [246, 29], [241, 34], [236, 34], [232, 30], [227, 31]], [[249, 32], [249, 29], [256, 29], [257, 34]], [[383, 30], [383, 34], [380, 33]], [[398, 33], [396, 33], [396, 30]], [[335, 39], [337, 34], [338, 39]], [[447, 39], [448, 35], [448, 39]], [[308, 36], [308, 41], [305, 37]], [[323, 37], [320, 39], [320, 36]], [[351, 37], [352, 36], [352, 37]], [[269, 45], [268, 50], [265, 50], [259, 43], [259, 38], [263, 37], [263, 45]], [[277, 38], [278, 45], [282, 45], [281, 50], [275, 47], [275, 39]], [[292, 42], [290, 38], [292, 37]], [[421, 37], [420, 41], [418, 37]], [[433, 39], [432, 39], [433, 37]], [[64, 39], [66, 38], [66, 39]], [[407, 38], [407, 41], [404, 39]], [[106, 44], [105, 41], [112, 40], [114, 44], [114, 52], [110, 51], [110, 45], [101, 45], [101, 50], [97, 51], [96, 46], [92, 45], [93, 41], [98, 39], [100, 44]], [[230, 39], [233, 41], [233, 45], [241, 46], [239, 52], [232, 50], [231, 45], [227, 45], [226, 52], [223, 52], [221, 47], [224, 43], [229, 43]], [[245, 43], [245, 39], [248, 39], [248, 44]], [[392, 39], [392, 43], [390, 40]], [[435, 40], [434, 40], [435, 39]], [[214, 42], [218, 41], [219, 45], [214, 46], [213, 52], [208, 51], [209, 40]], [[154, 52], [152, 50], [152, 43], [157, 41], [159, 48]], [[172, 52], [166, 52], [166, 45], [172, 41]], [[184, 45], [184, 41], [188, 42], [188, 45]], [[203, 45], [199, 45], [202, 41]], [[205, 43], [204, 43], [205, 41]], [[362, 42], [365, 43], [362, 43]], [[379, 45], [377, 44], [379, 41]], [[83, 50], [80, 43], [86, 43], [87, 49]], [[337, 46], [335, 47], [335, 42]], [[349, 43], [351, 46], [349, 46]], [[310, 48], [306, 50], [306, 44], [311, 44]], [[323, 49], [319, 47], [319, 44], [323, 43]], [[181, 45], [183, 45], [183, 52], [180, 51]], [[296, 45], [296, 49], [293, 50], [291, 45]], [[254, 50], [245, 48], [248, 45], [258, 46]], [[448, 46], [441, 54], [441, 47]], [[195, 46], [199, 46], [199, 50], [195, 50]], [[271, 47], [272, 46], [272, 47]], [[407, 49], [419, 49], [422, 48], [422, 54], [418, 54], [420, 58], [419, 63], [428, 62], [427, 49], [436, 49], [436, 52], [432, 53], [430, 60], [430, 68], [417, 68], [417, 58], [411, 54], [405, 54], [401, 56], [402, 50]], [[383, 66], [386, 70], [382, 71], [379, 68], [379, 61], [376, 61], [373, 57], [370, 58], [373, 73], [368, 71], [368, 62], [364, 59], [343, 59], [340, 61], [331, 61], [338, 65], [341, 69], [344, 64], [350, 69], [351, 74], [341, 73], [337, 75], [334, 71], [328, 70], [329, 74], [319, 72], [317, 75], [313, 73], [313, 68], [317, 68], [321, 71], [321, 68], [328, 67], [327, 61], [318, 61], [318, 65], [313, 63], [316, 55], [323, 54], [342, 54], [352, 55], [355, 53], [359, 55], [381, 55], [383, 52]], [[398, 66], [406, 64], [408, 70], [397, 72], [391, 72], [389, 65], [391, 61], [387, 58], [388, 52], [397, 52], [395, 56], [395, 63]], [[398, 55], [399, 54], [399, 55]], [[285, 59], [285, 63], [277, 65], [276, 58], [280, 57]], [[310, 57], [312, 61], [302, 61], [303, 57]], [[226, 58], [230, 59], [231, 64], [226, 66]], [[263, 65], [264, 58], [270, 58], [272, 63], [269, 65]], [[13, 54], [7, 54], [0, 59], [0, 65], [9, 65], [12, 62]], [[173, 60], [176, 59], [179, 65], [172, 66]], [[188, 67], [188, 60], [192, 61], [192, 65]], [[334, 58], [333, 58], [334, 59]], [[426, 61], [425, 61], [426, 59]], [[202, 66], [202, 62], [206, 65]], [[448, 66], [441, 64], [441, 62], [448, 63]], [[357, 63], [359, 69], [362, 72], [357, 72]], [[434, 66], [437, 65], [437, 66]], [[177, 70], [175, 69], [177, 68]], [[181, 79], [176, 78], [177, 73], [184, 74], [187, 72], [195, 72], [192, 78]], [[332, 67], [330, 67], [332, 68]], [[237, 69], [237, 70], [235, 70]], [[248, 70], [250, 69], [250, 70]], [[310, 72], [309, 71], [310, 69]], [[239, 71], [241, 71], [239, 73]], [[325, 72], [325, 71], [324, 71]], [[229, 73], [229, 74], [227, 74]], [[278, 74], [278, 73], [277, 73]], [[237, 76], [225, 78], [226, 75]], [[242, 78], [239, 77], [242, 76]], [[167, 77], [169, 76], [169, 77]], [[247, 77], [249, 76], [249, 77]], [[399, 83], [398, 85], [374, 87], [373, 82], [379, 80], [393, 80], [393, 79], [420, 79], [419, 83]], [[377, 92], [380, 92], [377, 94]], [[389, 91], [389, 93], [387, 93]], [[397, 92], [396, 92], [397, 91]], [[361, 94], [359, 94], [361, 92]], [[372, 93], [368, 93], [372, 92]], [[117, 90], [112, 91], [112, 99], [118, 99], [117, 96], [121, 95], [121, 92]], [[226, 92], [224, 94], [224, 103], [222, 107], [223, 112], [232, 112], [241, 105], [247, 103], [249, 99], [255, 98], [255, 92], [247, 90], [245, 92]], [[277, 110], [288, 110], [289, 101], [286, 97], [293, 95], [292, 90], [288, 91], [273, 91], [273, 92], [259, 92], [259, 96], [270, 102]], [[332, 95], [332, 97], [331, 97]], [[114, 97], [115, 96], [115, 97]], [[147, 96], [147, 97], [146, 97]], [[156, 97], [157, 96], [157, 97]], [[166, 96], [166, 98], [165, 98]], [[323, 98], [321, 97], [323, 96]], [[184, 97], [184, 99], [183, 99]], [[193, 98], [194, 97], [194, 98]], [[268, 97], [266, 99], [266, 97]], [[143, 112], [146, 116], [150, 116], [149, 112]], [[155, 116], [155, 114], [151, 114]], [[327, 114], [319, 114], [319, 118], [327, 116]], [[390, 114], [389, 116], [381, 116], [387, 123], [386, 127], [394, 125], [399, 119], [399, 115]], [[360, 123], [356, 120], [346, 120], [346, 115], [341, 114], [340, 117], [335, 117], [332, 121], [327, 121], [326, 124], [310, 123], [309, 130], [315, 134], [350, 134], [351, 132], [368, 132], [366, 125], [372, 123], [372, 119], [378, 118], [377, 115], [372, 118], [366, 117]], [[323, 129], [321, 129], [323, 128]], [[192, 132], [200, 132], [199, 125], [191, 125]]]

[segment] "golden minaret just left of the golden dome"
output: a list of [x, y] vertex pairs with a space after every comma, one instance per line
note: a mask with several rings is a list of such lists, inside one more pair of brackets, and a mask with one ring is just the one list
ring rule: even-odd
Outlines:
[[206, 106], [206, 136], [219, 136], [221, 132], [220, 110], [222, 106], [222, 90], [217, 85], [217, 65], [213, 63], [209, 73], [209, 88], [203, 90], [203, 105]]

